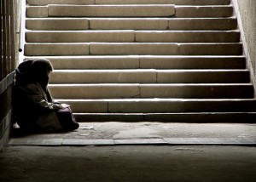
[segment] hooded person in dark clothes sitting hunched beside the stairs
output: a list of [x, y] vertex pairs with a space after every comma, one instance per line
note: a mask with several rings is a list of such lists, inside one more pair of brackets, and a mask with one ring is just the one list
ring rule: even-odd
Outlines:
[[68, 105], [53, 100], [49, 89], [49, 60], [26, 60], [15, 69], [15, 119], [21, 129], [73, 130], [79, 128]]

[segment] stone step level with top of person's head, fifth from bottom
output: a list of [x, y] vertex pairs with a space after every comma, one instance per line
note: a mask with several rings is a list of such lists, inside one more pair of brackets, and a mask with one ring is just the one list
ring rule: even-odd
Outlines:
[[37, 56], [59, 69], [246, 69], [244, 56]]

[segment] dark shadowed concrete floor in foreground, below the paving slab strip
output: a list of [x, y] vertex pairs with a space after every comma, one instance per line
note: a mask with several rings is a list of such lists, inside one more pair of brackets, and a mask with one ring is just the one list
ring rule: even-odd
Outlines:
[[0, 181], [256, 180], [256, 149], [238, 146], [8, 146]]

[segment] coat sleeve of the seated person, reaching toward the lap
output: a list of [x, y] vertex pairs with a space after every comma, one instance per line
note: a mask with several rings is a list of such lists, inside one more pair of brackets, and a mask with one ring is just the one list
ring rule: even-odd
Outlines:
[[20, 89], [27, 100], [32, 101], [32, 103], [37, 105], [42, 110], [58, 110], [61, 108], [59, 103], [51, 103], [45, 100], [44, 94], [42, 94], [36, 84], [29, 84]]

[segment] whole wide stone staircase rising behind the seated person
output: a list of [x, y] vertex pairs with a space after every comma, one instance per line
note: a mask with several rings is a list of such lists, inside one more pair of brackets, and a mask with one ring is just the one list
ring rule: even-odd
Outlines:
[[80, 122], [255, 122], [230, 0], [26, 0], [26, 57]]

